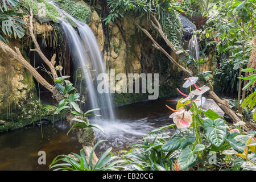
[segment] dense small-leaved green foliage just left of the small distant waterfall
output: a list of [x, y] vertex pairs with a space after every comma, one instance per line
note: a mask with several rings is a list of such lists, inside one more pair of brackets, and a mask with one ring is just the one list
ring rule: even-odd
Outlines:
[[163, 32], [175, 46], [180, 46], [182, 24], [180, 23], [179, 16], [174, 11], [168, 11], [165, 16]]

